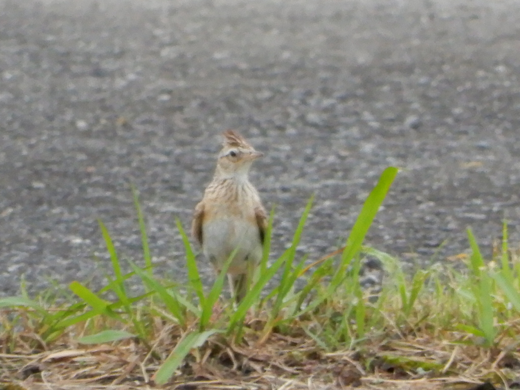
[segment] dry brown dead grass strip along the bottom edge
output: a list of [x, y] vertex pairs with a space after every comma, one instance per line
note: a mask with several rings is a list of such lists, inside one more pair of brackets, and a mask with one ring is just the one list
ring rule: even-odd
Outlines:
[[[151, 348], [137, 339], [84, 346], [74, 340], [80, 329], [51, 344], [22, 331], [3, 335], [0, 389], [153, 389], [153, 374], [180, 337], [178, 327], [155, 319]], [[431, 332], [430, 332], [431, 333]], [[489, 380], [512, 383], [520, 368], [513, 340], [484, 348], [456, 332], [388, 334], [359, 348], [327, 353], [303, 332], [272, 333], [259, 340], [249, 329], [240, 345], [214, 335], [193, 349], [176, 375], [162, 388], [324, 390], [467, 389]], [[12, 350], [9, 350], [12, 348]], [[430, 370], [424, 370], [430, 367]], [[9, 387], [11, 386], [11, 387]]]

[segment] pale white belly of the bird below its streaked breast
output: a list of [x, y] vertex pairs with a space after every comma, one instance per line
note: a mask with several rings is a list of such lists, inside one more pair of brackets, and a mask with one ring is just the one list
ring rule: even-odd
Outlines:
[[220, 270], [235, 249], [228, 274], [244, 274], [250, 265], [262, 259], [262, 243], [258, 227], [248, 220], [218, 218], [203, 226], [203, 251], [213, 265]]

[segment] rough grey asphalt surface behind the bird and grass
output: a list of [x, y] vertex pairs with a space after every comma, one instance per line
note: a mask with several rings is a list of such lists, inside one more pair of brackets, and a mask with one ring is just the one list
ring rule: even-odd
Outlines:
[[0, 0], [0, 295], [99, 282], [98, 218], [140, 262], [129, 183], [158, 273], [183, 280], [174, 218], [226, 128], [266, 154], [274, 255], [313, 193], [300, 253], [335, 249], [388, 165], [368, 244], [446, 261], [471, 226], [489, 253], [504, 217], [520, 242], [519, 74], [513, 1]]

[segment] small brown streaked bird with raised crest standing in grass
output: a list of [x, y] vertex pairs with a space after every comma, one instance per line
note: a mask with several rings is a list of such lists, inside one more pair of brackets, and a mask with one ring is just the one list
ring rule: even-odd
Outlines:
[[231, 130], [223, 135], [224, 148], [218, 154], [213, 180], [195, 207], [191, 235], [217, 272], [237, 250], [227, 272], [231, 293], [240, 302], [263, 254], [267, 217], [249, 181], [251, 164], [263, 153]]

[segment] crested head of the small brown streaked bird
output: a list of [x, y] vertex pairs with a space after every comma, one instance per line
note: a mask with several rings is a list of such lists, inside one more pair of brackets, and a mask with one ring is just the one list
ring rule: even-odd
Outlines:
[[217, 175], [223, 178], [247, 178], [253, 161], [264, 154], [256, 151], [232, 130], [225, 131], [223, 136], [224, 147], [218, 154]]

